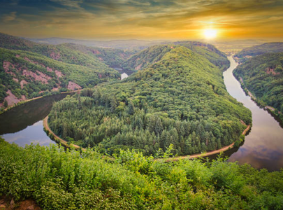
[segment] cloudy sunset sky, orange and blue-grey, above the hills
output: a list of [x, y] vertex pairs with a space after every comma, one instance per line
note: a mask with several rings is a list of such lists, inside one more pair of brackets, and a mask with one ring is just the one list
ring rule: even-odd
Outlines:
[[0, 32], [30, 38], [283, 38], [283, 0], [0, 0]]

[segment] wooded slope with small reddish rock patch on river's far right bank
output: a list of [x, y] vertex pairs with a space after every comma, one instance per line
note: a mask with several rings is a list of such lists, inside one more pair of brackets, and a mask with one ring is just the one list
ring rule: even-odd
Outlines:
[[233, 73], [257, 99], [283, 113], [283, 52], [252, 57]]

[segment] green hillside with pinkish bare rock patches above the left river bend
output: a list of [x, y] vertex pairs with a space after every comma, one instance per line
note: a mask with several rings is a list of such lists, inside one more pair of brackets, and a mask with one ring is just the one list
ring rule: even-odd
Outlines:
[[[14, 95], [10, 97], [16, 103], [50, 92], [94, 87], [108, 78], [118, 77], [117, 71], [101, 62], [90, 68], [66, 64], [34, 52], [0, 48], [0, 103], [10, 94], [8, 91]], [[7, 100], [9, 105], [13, 101]]]

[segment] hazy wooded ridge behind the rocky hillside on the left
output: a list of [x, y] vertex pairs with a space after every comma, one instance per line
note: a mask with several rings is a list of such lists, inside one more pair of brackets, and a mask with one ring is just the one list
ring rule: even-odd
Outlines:
[[101, 62], [111, 65], [120, 65], [136, 50], [113, 50], [105, 48], [89, 48], [83, 45], [60, 44], [48, 45], [34, 43], [23, 38], [0, 33], [0, 47], [10, 50], [26, 50], [50, 57], [68, 64], [77, 64], [96, 69]]

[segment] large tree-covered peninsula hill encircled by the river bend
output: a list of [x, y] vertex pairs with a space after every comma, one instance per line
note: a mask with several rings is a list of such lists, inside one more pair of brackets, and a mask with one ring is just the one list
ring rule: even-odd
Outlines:
[[147, 155], [170, 144], [177, 155], [222, 148], [251, 121], [250, 111], [226, 92], [222, 71], [183, 46], [125, 80], [67, 97], [50, 112], [50, 127], [68, 141]]

